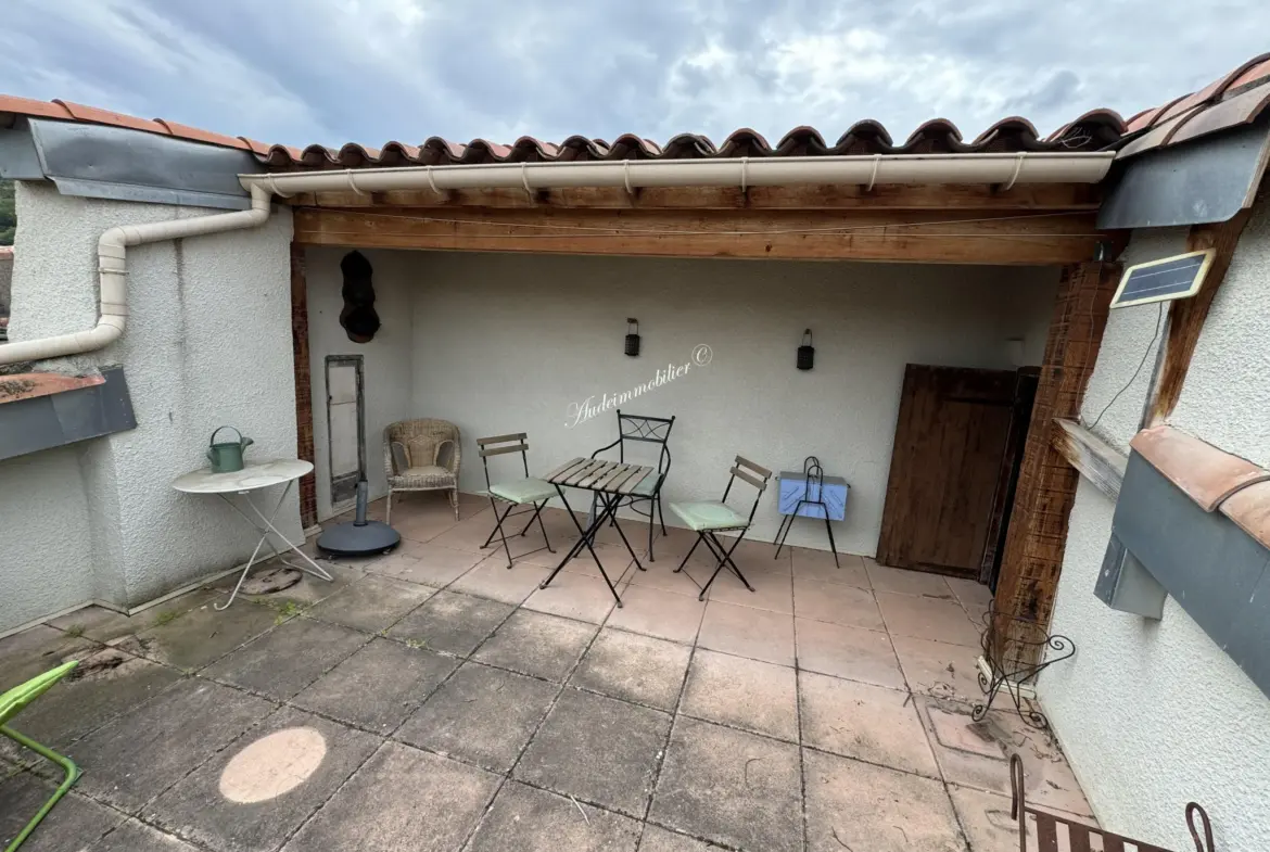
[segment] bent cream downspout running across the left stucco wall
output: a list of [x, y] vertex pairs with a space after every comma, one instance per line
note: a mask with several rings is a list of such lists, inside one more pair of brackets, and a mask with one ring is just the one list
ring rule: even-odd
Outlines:
[[269, 198], [271, 193], [265, 188], [251, 187], [251, 210], [146, 225], [123, 225], [105, 231], [97, 243], [102, 290], [100, 319], [97, 325], [88, 331], [0, 345], [0, 366], [76, 356], [114, 343], [123, 334], [128, 316], [127, 246], [257, 227], [269, 218]]

